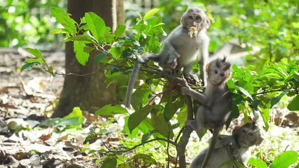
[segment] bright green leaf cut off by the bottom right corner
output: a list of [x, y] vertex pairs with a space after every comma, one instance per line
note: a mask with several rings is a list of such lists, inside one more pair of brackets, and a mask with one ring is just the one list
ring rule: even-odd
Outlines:
[[270, 168], [289, 168], [295, 164], [298, 159], [298, 153], [296, 151], [286, 151], [273, 161]]

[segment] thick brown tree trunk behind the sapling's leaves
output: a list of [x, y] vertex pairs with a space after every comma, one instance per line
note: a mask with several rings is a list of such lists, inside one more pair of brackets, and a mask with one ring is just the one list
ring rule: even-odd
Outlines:
[[[119, 0], [68, 0], [67, 12], [71, 13], [71, 17], [80, 23], [80, 18], [84, 16], [85, 12], [92, 11], [104, 19], [106, 26], [111, 27], [111, 30], [114, 31], [117, 26], [117, 1]], [[118, 8], [120, 11], [124, 11], [123, 5]], [[98, 69], [95, 63], [97, 54], [99, 54], [98, 51], [91, 52], [86, 66], [83, 66], [76, 60], [73, 42], [66, 42], [65, 68], [76, 74], [94, 72]], [[101, 66], [103, 64], [99, 65], [99, 67]], [[104, 69], [88, 76], [65, 76], [58, 105], [51, 117], [64, 117], [77, 106], [81, 110], [94, 113], [101, 107], [113, 103], [116, 86], [111, 84], [108, 89], [106, 86]]]

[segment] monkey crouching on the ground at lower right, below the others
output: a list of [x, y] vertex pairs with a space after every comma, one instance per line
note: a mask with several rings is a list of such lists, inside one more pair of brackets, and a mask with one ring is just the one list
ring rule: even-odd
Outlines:
[[[206, 168], [219, 168], [223, 163], [231, 160], [229, 155], [232, 155], [234, 160], [246, 164], [251, 158], [249, 147], [259, 146], [264, 140], [255, 122], [236, 127], [232, 135], [219, 135], [218, 139]], [[230, 149], [229, 154], [226, 147]], [[207, 151], [208, 148], [201, 151], [192, 160], [189, 168], [202, 168]], [[221, 168], [233, 168], [233, 166], [224, 165]]]

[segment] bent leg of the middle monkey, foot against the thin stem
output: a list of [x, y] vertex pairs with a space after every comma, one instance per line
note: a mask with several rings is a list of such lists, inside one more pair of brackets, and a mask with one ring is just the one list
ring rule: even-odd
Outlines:
[[205, 106], [200, 106], [197, 110], [195, 120], [186, 120], [185, 127], [189, 126], [197, 133], [202, 133], [204, 129], [204, 116], [203, 116], [203, 110], [208, 110]]

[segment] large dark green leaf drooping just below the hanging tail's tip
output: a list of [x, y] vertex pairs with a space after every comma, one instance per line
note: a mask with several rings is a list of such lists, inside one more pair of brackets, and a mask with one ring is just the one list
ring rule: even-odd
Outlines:
[[150, 111], [152, 109], [152, 106], [147, 105], [137, 111], [135, 111], [133, 114], [130, 115], [128, 120], [128, 128], [130, 130], [130, 133], [132, 134], [132, 131], [139, 126], [139, 124], [147, 118]]

